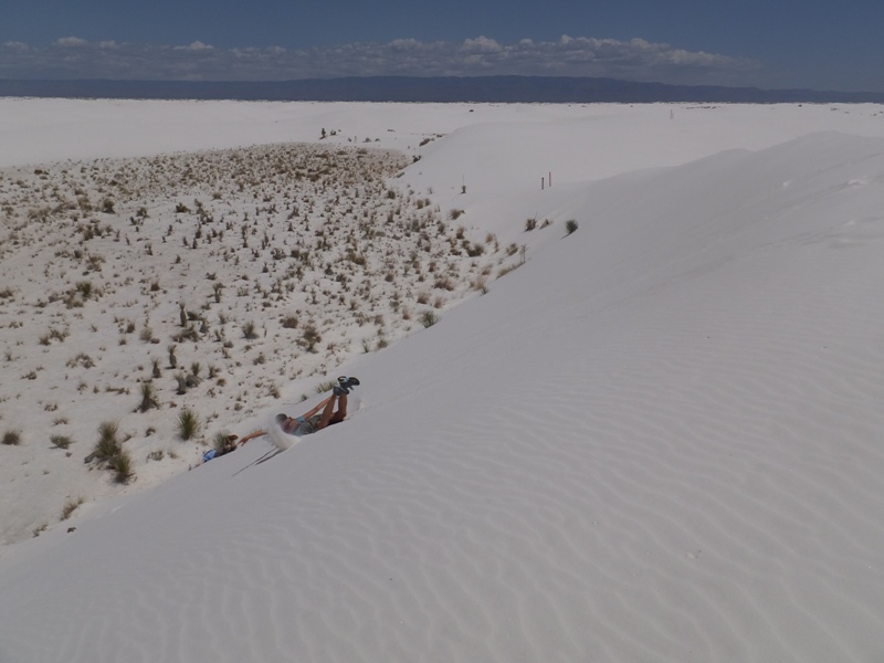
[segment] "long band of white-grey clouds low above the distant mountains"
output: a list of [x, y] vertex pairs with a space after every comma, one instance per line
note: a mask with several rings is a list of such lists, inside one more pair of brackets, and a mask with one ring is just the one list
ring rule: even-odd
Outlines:
[[[71, 51], [76, 49], [76, 57]], [[567, 75], [664, 83], [747, 84], [754, 61], [675, 49], [643, 39], [620, 41], [562, 35], [502, 44], [487, 36], [462, 42], [397, 39], [286, 50], [88, 42], [59, 39], [49, 48], [0, 46], [0, 77], [273, 81], [335, 76]]]

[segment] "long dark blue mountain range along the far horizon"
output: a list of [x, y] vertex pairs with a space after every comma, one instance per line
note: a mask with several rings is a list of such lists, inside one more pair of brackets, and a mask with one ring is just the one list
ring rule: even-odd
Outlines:
[[0, 96], [498, 103], [884, 103], [884, 93], [665, 85], [565, 76], [373, 76], [302, 81], [14, 81]]

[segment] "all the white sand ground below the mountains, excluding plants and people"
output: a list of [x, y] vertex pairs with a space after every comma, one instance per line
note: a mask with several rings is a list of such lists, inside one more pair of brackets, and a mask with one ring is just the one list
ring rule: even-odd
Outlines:
[[[129, 146], [109, 155], [115, 159], [140, 155], [166, 160], [179, 173], [182, 164], [199, 164], [191, 171], [207, 177], [218, 172], [208, 185], [194, 176], [193, 186], [207, 186], [199, 198], [203, 213], [214, 218], [204, 225], [192, 189], [182, 198], [190, 185], [180, 176], [168, 183], [170, 191], [180, 187], [176, 194], [146, 199], [143, 225], [137, 208], [120, 217], [119, 210], [103, 215], [77, 206], [87, 219], [98, 219], [88, 239], [91, 225], [81, 230], [74, 221], [40, 225], [33, 218], [18, 230], [4, 227], [3, 265], [21, 262], [19, 281], [2, 299], [0, 338], [12, 386], [3, 381], [0, 428], [20, 429], [22, 439], [0, 446], [0, 466], [9, 473], [4, 486], [15, 488], [9, 495], [21, 504], [39, 499], [50, 485], [66, 484], [70, 494], [61, 495], [57, 511], [29, 512], [15, 502], [9, 512], [46, 517], [48, 528], [0, 558], [0, 660], [822, 662], [880, 655], [880, 107], [166, 103], [151, 104], [148, 115], [137, 103], [0, 106], [17, 109], [0, 115], [7, 126], [18, 122], [15, 136], [59, 136], [57, 118], [64, 117], [77, 120], [82, 140], [95, 122], [110, 135], [129, 136]], [[189, 135], [188, 123], [199, 126], [182, 145], [188, 151], [235, 147], [229, 140], [274, 147], [158, 157], [175, 149], [157, 133], [164, 119], [181, 135]], [[319, 141], [319, 128], [336, 134]], [[0, 131], [4, 140], [9, 135]], [[235, 177], [199, 161], [248, 161], [261, 150], [282, 150], [276, 154], [293, 160], [318, 149], [282, 145], [295, 139], [334, 146], [319, 157], [330, 166], [352, 158], [350, 150], [369, 145], [366, 138], [370, 147], [400, 150], [410, 165], [391, 179], [379, 172], [377, 183], [365, 183], [360, 173], [359, 181], [309, 192], [299, 182], [262, 175], [240, 197], [233, 196]], [[8, 141], [4, 154], [24, 154], [17, 140]], [[9, 181], [4, 172], [0, 183], [12, 197], [7, 218], [21, 219], [35, 196], [61, 194], [55, 188], [63, 189], [64, 177], [56, 169], [65, 168], [57, 166], [65, 159], [69, 177], [76, 171], [80, 186], [90, 187], [93, 206], [112, 190], [107, 178], [115, 172], [141, 181], [152, 170], [149, 159], [113, 167], [110, 160], [84, 161], [101, 155], [73, 140], [67, 152], [64, 141], [51, 149], [40, 145], [45, 158], [7, 164], [21, 169], [17, 177], [24, 182]], [[84, 167], [97, 171], [92, 179], [83, 179]], [[245, 170], [257, 168], [251, 162]], [[549, 171], [554, 185], [541, 190], [539, 180]], [[340, 200], [332, 198], [333, 189]], [[218, 199], [215, 190], [223, 193]], [[388, 190], [396, 198], [385, 199]], [[348, 202], [347, 196], [355, 197]], [[175, 212], [178, 203], [190, 211]], [[313, 208], [309, 229], [298, 223], [290, 231], [287, 220], [259, 211], [276, 204], [282, 214], [286, 203]], [[360, 214], [369, 209], [382, 215], [386, 204], [402, 204], [402, 214], [419, 223], [421, 214], [435, 214], [444, 230], [430, 235], [429, 252], [421, 245], [417, 257], [409, 250], [397, 255], [408, 227], [396, 231], [396, 221], [390, 229], [385, 219], [380, 227], [389, 234], [369, 242], [379, 246], [380, 262], [357, 265], [370, 272], [359, 308], [348, 313], [319, 302], [334, 306], [323, 332], [344, 349], [324, 359], [309, 352], [294, 359], [301, 329], [280, 320], [287, 306], [306, 313], [302, 295], [311, 294], [284, 286], [274, 293], [274, 281], [262, 276], [264, 262], [270, 269], [280, 262], [274, 248], [288, 240], [283, 245], [292, 249], [302, 238], [312, 252], [328, 255], [317, 259], [315, 278], [332, 276], [327, 262], [337, 275], [341, 263], [351, 262], [350, 234], [316, 232], [335, 217], [366, 241], [357, 233]], [[347, 206], [357, 220], [349, 220]], [[161, 223], [152, 222], [151, 209]], [[459, 211], [456, 220], [450, 210]], [[242, 240], [246, 212], [246, 236], [254, 240], [248, 249], [218, 238], [204, 248], [204, 234], [192, 248], [196, 229], [220, 231], [222, 214], [236, 221], [225, 239], [233, 233]], [[529, 232], [527, 219], [536, 220]], [[567, 234], [570, 220], [577, 229]], [[118, 242], [116, 229], [95, 236], [95, 229], [114, 223]], [[159, 263], [165, 271], [157, 276], [166, 287], [151, 291], [149, 259], [162, 249], [170, 223], [169, 252]], [[38, 241], [41, 228], [46, 236]], [[10, 236], [14, 232], [18, 239]], [[123, 250], [124, 235], [138, 246], [136, 234], [148, 232], [157, 233], [150, 235], [154, 256]], [[264, 232], [275, 233], [266, 246]], [[323, 239], [329, 246], [318, 246]], [[485, 246], [483, 253], [463, 255], [464, 239]], [[225, 271], [222, 246], [231, 261], [240, 257], [238, 270]], [[507, 255], [509, 246], [517, 251]], [[78, 248], [80, 259], [55, 256]], [[434, 270], [455, 262], [452, 292], [476, 293], [467, 291], [470, 282], [491, 265], [488, 294], [443, 306], [439, 324], [414, 328], [422, 306], [436, 309], [417, 304], [420, 286], [406, 285], [404, 267], [427, 283], [432, 253], [442, 249], [448, 253], [435, 259]], [[83, 274], [93, 251], [104, 262]], [[202, 253], [199, 260], [194, 252]], [[128, 257], [108, 260], [117, 254]], [[187, 274], [176, 273], [178, 254], [192, 262]], [[227, 284], [245, 266], [250, 290], [234, 297], [225, 287], [221, 302], [213, 302], [211, 283], [219, 274]], [[388, 269], [398, 270], [394, 282], [415, 297], [412, 325], [390, 319], [396, 291], [385, 280]], [[62, 276], [64, 270], [70, 276]], [[214, 270], [215, 280], [207, 278]], [[355, 287], [361, 278], [351, 277]], [[65, 297], [83, 298], [76, 282], [86, 280], [101, 294], [83, 306], [75, 298], [69, 308]], [[62, 287], [69, 282], [73, 295]], [[317, 297], [333, 283], [340, 285], [317, 283]], [[157, 294], [171, 286], [178, 292]], [[53, 292], [62, 296], [50, 302]], [[183, 368], [197, 351], [207, 352], [196, 359], [203, 371], [209, 361], [229, 361], [224, 393], [215, 388], [210, 394], [203, 382], [178, 397], [168, 383], [172, 371], [164, 367], [162, 407], [133, 412], [138, 376], [150, 372], [135, 349], [159, 345], [165, 351], [169, 343], [136, 338], [139, 316], [155, 306], [152, 333], [180, 333], [187, 328], [179, 315], [182, 295], [192, 297], [186, 315], [199, 314], [208, 301], [214, 315], [227, 305], [233, 306], [231, 319], [239, 316], [223, 325], [232, 348], [221, 340], [209, 350], [211, 339], [178, 344]], [[358, 312], [370, 307], [372, 295], [376, 307], [385, 307], [387, 335], [401, 338], [382, 352], [364, 352], [357, 332]], [[400, 308], [406, 298], [400, 296]], [[263, 362], [251, 360], [259, 339], [233, 337], [246, 314], [269, 327]], [[129, 319], [136, 328], [120, 329], [120, 320]], [[28, 328], [30, 335], [22, 332]], [[77, 344], [95, 348], [73, 347], [76, 334], [85, 338]], [[255, 344], [250, 350], [246, 340]], [[86, 368], [81, 359], [67, 366], [80, 351], [95, 365]], [[296, 375], [299, 361], [308, 365], [304, 373], [316, 372]], [[36, 377], [21, 378], [25, 368]], [[65, 372], [88, 388], [65, 391]], [[200, 443], [175, 438], [173, 418], [185, 404], [207, 419], [212, 413], [207, 439], [223, 427], [244, 433], [280, 407], [255, 382], [274, 381], [284, 409], [297, 413], [316, 402], [315, 387], [326, 376], [339, 372], [362, 379], [361, 404], [350, 421], [285, 453], [256, 440], [183, 474], [176, 470], [183, 460], [176, 465], [136, 455], [134, 484], [117, 486], [97, 470], [86, 474], [98, 492], [85, 496], [70, 519], [56, 522], [82, 496], [80, 459], [94, 444], [99, 421], [118, 419], [123, 434], [140, 434], [143, 422], [156, 421], [150, 438], [191, 454], [192, 462]], [[114, 391], [125, 388], [130, 393]], [[302, 393], [312, 396], [303, 406], [288, 404]], [[171, 401], [181, 404], [172, 408]], [[64, 408], [93, 412], [92, 422], [72, 435], [72, 457], [48, 442], [56, 428], [52, 419]], [[29, 427], [32, 419], [38, 423]], [[64, 425], [73, 428], [57, 424]], [[150, 438], [134, 435], [123, 445], [138, 448]], [[173, 478], [138, 495], [114, 495], [158, 483], [164, 475], [151, 467], [166, 463], [164, 472]]]

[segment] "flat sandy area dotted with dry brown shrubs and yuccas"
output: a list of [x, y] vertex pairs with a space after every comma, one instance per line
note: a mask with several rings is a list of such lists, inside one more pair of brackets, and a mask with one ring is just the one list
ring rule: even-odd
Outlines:
[[435, 324], [508, 256], [398, 188], [409, 162], [285, 144], [0, 170], [4, 443], [76, 457], [113, 420], [131, 466], [103, 462], [128, 482], [140, 459], [176, 462], [149, 445], [183, 436], [178, 412], [202, 424], [187, 465], [287, 382]]

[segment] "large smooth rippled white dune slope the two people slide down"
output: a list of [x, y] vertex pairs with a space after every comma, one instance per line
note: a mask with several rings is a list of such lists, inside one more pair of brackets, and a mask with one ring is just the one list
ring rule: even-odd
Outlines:
[[[477, 210], [527, 167], [469, 188], [526, 264], [343, 367], [349, 421], [9, 548], [0, 661], [881, 660], [884, 119], [697, 109], [664, 140], [650, 118], [687, 110], [642, 110], [593, 136], [667, 149], [524, 192], [508, 228]], [[487, 135], [579, 164], [558, 129]], [[443, 208], [457, 136], [402, 178]], [[504, 168], [492, 143], [473, 162]]]

